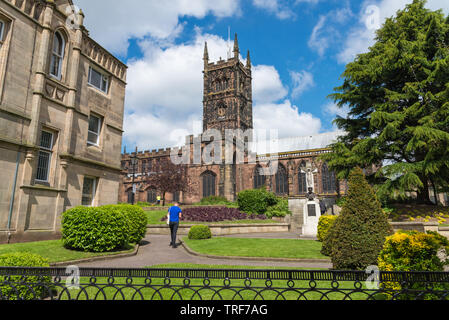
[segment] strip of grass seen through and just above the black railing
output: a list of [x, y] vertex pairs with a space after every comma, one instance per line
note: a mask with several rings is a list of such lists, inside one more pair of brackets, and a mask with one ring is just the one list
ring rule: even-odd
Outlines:
[[[227, 266], [227, 265], [197, 265], [197, 264], [162, 264], [148, 267], [151, 269], [227, 269], [227, 270], [289, 270], [292, 268], [279, 267], [254, 267], [254, 266]], [[295, 270], [301, 270], [296, 268]], [[252, 280], [249, 287], [244, 279], [231, 279], [230, 287], [224, 286], [224, 279], [211, 279], [208, 286], [204, 286], [204, 279], [191, 278], [186, 282], [184, 279], [165, 279], [152, 278], [151, 282], [144, 278], [133, 278], [129, 283], [126, 278], [115, 278], [113, 284], [108, 285], [107, 278], [97, 278], [95, 285], [91, 285], [82, 290], [69, 290], [63, 293], [61, 299], [67, 300], [70, 294], [71, 298], [79, 295], [80, 300], [86, 299], [86, 293], [89, 298], [108, 300], [343, 300], [347, 293], [350, 293], [347, 299], [364, 300], [367, 293], [353, 292], [355, 289], [353, 281], [339, 282], [340, 292], [329, 293], [332, 284], [330, 281], [316, 281], [317, 290], [310, 290], [309, 280], [296, 280], [290, 283], [293, 290], [289, 288], [287, 280], [273, 280], [267, 286], [265, 280]], [[88, 284], [89, 278], [81, 278], [81, 284]], [[320, 290], [322, 288], [322, 290]], [[362, 289], [365, 289], [365, 283], [362, 283]], [[58, 288], [58, 292], [62, 292]], [[196, 293], [197, 292], [197, 293]], [[198, 295], [199, 293], [199, 295]], [[382, 299], [382, 296], [377, 296]]]

